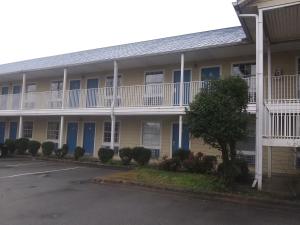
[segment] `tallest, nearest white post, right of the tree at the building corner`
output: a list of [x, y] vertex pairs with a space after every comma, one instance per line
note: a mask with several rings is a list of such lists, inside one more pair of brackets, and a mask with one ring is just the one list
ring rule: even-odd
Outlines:
[[258, 81], [258, 104], [257, 104], [257, 123], [256, 123], [256, 143], [257, 143], [257, 170], [256, 170], [256, 177], [257, 177], [257, 187], [258, 190], [262, 189], [262, 157], [263, 157], [263, 146], [262, 146], [262, 130], [263, 130], [263, 89], [264, 89], [264, 77], [263, 77], [263, 65], [264, 65], [264, 32], [263, 32], [263, 11], [259, 10], [258, 15], [258, 69], [257, 69], [257, 81]]

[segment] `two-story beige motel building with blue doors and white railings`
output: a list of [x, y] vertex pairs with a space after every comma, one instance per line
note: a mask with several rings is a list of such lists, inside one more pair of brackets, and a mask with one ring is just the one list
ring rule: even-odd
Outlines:
[[299, 174], [300, 1], [234, 7], [241, 27], [0, 65], [0, 142], [49, 140], [90, 156], [101, 146], [217, 155], [190, 138], [185, 108], [209, 80], [239, 76], [256, 123], [238, 150], [259, 186], [262, 173]]

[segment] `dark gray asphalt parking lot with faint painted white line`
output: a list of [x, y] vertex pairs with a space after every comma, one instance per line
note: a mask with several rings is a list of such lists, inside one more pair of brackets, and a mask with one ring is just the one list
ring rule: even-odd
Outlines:
[[70, 163], [0, 161], [1, 225], [299, 225], [300, 212], [94, 184], [115, 170]]

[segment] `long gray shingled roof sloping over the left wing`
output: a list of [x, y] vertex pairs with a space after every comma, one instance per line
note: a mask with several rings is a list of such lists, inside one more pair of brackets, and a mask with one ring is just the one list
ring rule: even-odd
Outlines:
[[224, 28], [2, 64], [0, 65], [0, 74], [239, 44], [245, 38], [242, 27]]

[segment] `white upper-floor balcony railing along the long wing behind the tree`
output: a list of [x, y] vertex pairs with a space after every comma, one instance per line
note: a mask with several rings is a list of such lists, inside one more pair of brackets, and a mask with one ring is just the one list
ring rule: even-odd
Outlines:
[[[249, 103], [256, 101], [255, 77], [245, 78], [249, 86]], [[183, 105], [188, 105], [194, 97], [209, 86], [209, 81], [192, 81], [183, 84]], [[61, 109], [62, 101], [66, 109], [110, 108], [113, 88], [29, 92], [24, 94], [23, 109]], [[0, 95], [0, 110], [21, 108], [21, 94]], [[180, 105], [180, 83], [121, 86], [117, 88], [115, 107], [172, 107]]]

